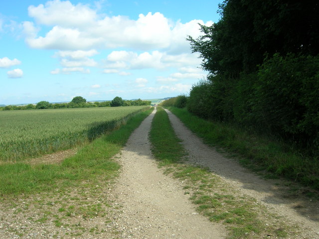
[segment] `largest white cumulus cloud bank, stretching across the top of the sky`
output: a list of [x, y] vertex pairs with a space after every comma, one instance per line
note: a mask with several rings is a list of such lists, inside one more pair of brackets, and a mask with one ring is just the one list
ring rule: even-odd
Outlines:
[[[23, 24], [30, 47], [59, 50], [130, 47], [139, 50], [166, 49], [171, 54], [189, 52], [187, 35], [201, 34], [198, 23], [169, 21], [160, 12], [140, 14], [137, 20], [127, 16], [99, 15], [86, 4], [51, 0], [29, 6], [28, 13], [38, 25], [51, 27], [43, 36], [31, 22]], [[210, 25], [212, 22], [207, 22]]]

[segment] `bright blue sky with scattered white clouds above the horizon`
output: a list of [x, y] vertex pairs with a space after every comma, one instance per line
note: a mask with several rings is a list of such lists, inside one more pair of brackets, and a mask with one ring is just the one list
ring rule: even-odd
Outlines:
[[0, 0], [0, 105], [159, 99], [205, 78], [186, 37], [222, 0]]

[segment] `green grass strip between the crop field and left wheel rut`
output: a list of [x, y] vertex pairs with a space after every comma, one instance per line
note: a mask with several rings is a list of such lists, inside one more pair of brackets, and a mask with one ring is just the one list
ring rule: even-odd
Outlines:
[[101, 175], [105, 181], [111, 181], [120, 168], [112, 157], [151, 112], [152, 109], [133, 116], [125, 125], [93, 140], [61, 164], [1, 163], [0, 196], [63, 190]]

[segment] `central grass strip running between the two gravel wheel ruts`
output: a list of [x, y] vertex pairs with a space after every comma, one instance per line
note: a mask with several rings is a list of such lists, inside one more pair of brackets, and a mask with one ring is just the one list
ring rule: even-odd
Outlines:
[[254, 199], [235, 191], [208, 170], [183, 162], [184, 149], [160, 108], [152, 122], [150, 139], [152, 151], [165, 172], [183, 181], [185, 194], [198, 213], [227, 227], [229, 239], [284, 238], [294, 234], [280, 217], [271, 215]]

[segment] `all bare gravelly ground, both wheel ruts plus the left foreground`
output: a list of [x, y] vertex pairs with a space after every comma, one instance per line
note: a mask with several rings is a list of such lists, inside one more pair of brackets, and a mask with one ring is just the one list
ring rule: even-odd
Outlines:
[[[208, 167], [227, 187], [255, 198], [270, 213], [284, 216], [288, 224], [299, 225], [301, 235], [295, 239], [319, 239], [319, 202], [304, 196], [307, 189], [292, 193], [291, 185], [285, 186], [288, 183], [284, 180], [266, 180], [248, 171], [205, 145], [179, 119], [167, 113], [188, 151], [189, 162]], [[164, 175], [154, 160], [148, 139], [154, 114], [155, 111], [143, 121], [115, 156], [122, 169], [113, 186], [88, 180], [81, 190], [63, 195], [56, 192], [1, 199], [0, 238], [225, 239], [224, 226], [197, 214], [182, 189], [182, 182]], [[53, 156], [57, 163], [75, 152], [64, 151], [31, 162], [50, 162]], [[94, 217], [83, 217], [76, 210], [66, 216], [61, 210], [61, 207], [83, 210], [90, 205], [102, 205]], [[56, 219], [60, 226], [56, 225]]]

